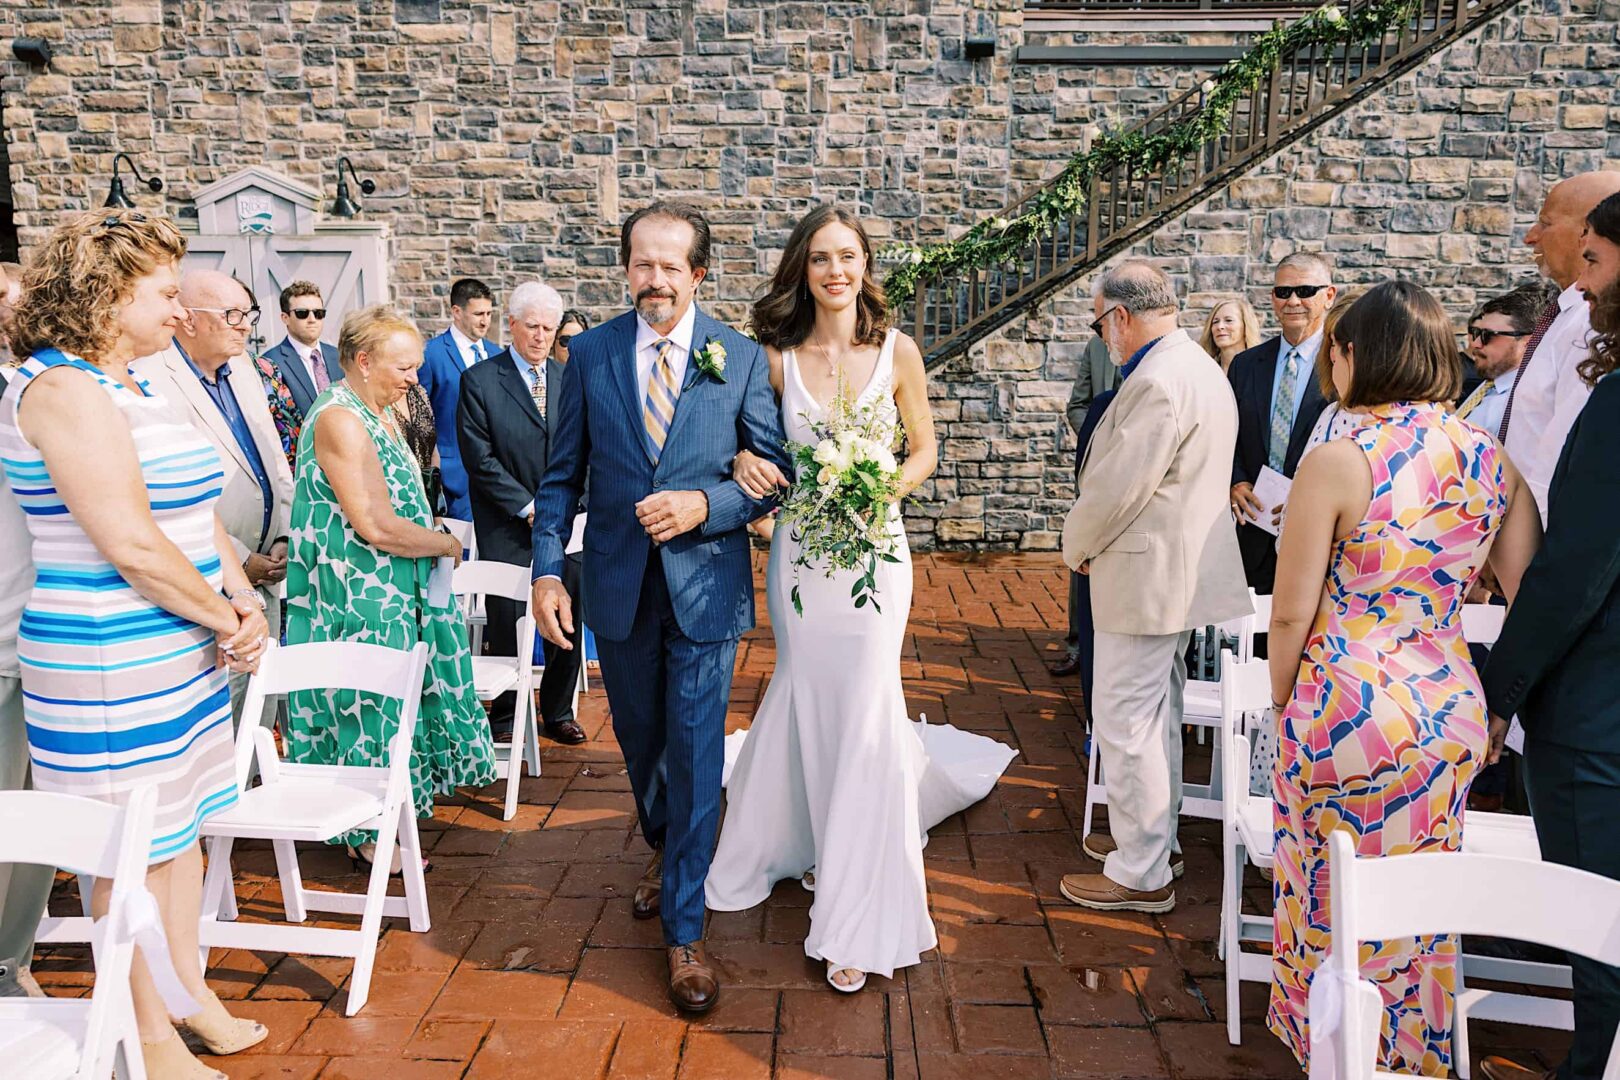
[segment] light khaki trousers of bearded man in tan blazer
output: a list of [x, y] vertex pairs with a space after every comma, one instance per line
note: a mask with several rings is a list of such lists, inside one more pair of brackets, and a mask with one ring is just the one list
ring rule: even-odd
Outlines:
[[1170, 884], [1181, 814], [1181, 717], [1192, 633], [1095, 631], [1092, 738], [1108, 782], [1108, 831], [1118, 850], [1103, 873], [1128, 889]]

